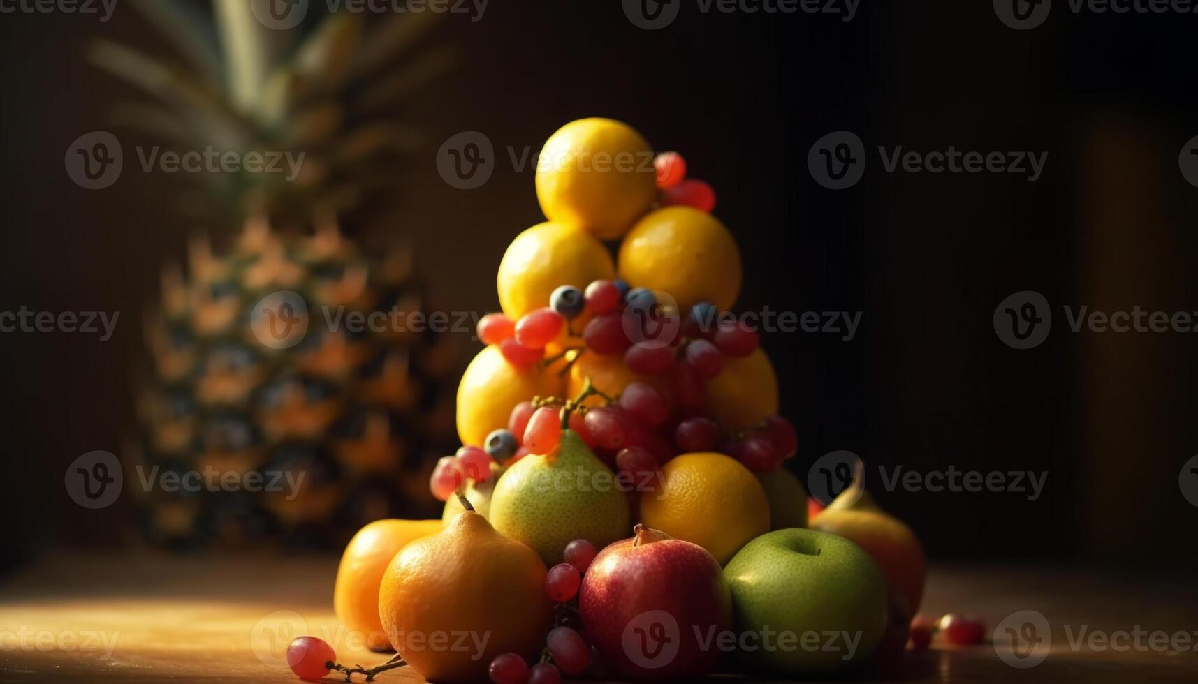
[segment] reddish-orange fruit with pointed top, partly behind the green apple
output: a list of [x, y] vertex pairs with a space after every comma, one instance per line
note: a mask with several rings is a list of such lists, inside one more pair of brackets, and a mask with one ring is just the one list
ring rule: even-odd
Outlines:
[[919, 610], [927, 570], [924, 546], [910, 527], [883, 512], [835, 508], [812, 517], [810, 527], [846, 537], [865, 549], [910, 611]]

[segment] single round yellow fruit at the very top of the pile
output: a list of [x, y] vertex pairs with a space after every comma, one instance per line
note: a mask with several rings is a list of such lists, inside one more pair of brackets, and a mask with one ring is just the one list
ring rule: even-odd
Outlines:
[[618, 240], [658, 198], [653, 150], [611, 119], [571, 121], [549, 137], [537, 161], [537, 199], [549, 220]]

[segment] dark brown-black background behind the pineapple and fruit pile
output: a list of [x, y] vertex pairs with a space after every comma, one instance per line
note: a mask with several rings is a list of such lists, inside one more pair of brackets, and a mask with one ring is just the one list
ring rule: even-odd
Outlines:
[[[370, 230], [412, 237], [447, 308], [495, 310], [506, 244], [541, 220], [532, 169], [514, 169], [508, 147], [536, 151], [583, 116], [627, 121], [715, 187], [745, 260], [738, 308], [864, 313], [851, 341], [764, 340], [804, 478], [835, 449], [918, 471], [1046, 471], [1034, 502], [873, 488], [937, 558], [1192, 562], [1198, 509], [1178, 472], [1198, 453], [1198, 338], [1075, 334], [1060, 307], [1198, 309], [1198, 189], [1178, 170], [1198, 134], [1198, 17], [1057, 5], [1042, 26], [1015, 31], [990, 2], [863, 2], [849, 23], [684, 4], [671, 26], [645, 31], [612, 1], [492, 1], [482, 20], [449, 17], [435, 35], [462, 61], [413, 99], [426, 145], [397, 178], [400, 210]], [[186, 177], [126, 174], [103, 192], [67, 177], [67, 146], [133, 95], [83, 61], [97, 36], [169, 50], [132, 7], [109, 23], [0, 14], [0, 310], [121, 311], [108, 343], [0, 335], [5, 564], [120, 538], [128, 510], [75, 507], [63, 468], [120, 453], [161, 264], [180, 261], [193, 231], [222, 228], [186, 218]], [[839, 129], [860, 135], [871, 163], [833, 192], [806, 156]], [[461, 131], [496, 149], [479, 189], [454, 189], [434, 164]], [[885, 174], [877, 145], [1047, 151], [1048, 163], [1035, 183]], [[1028, 351], [991, 323], [1019, 290], [1042, 292], [1059, 316]]]

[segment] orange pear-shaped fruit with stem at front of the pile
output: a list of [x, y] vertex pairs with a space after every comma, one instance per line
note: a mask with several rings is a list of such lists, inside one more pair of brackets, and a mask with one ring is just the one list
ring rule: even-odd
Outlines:
[[[552, 624], [545, 564], [537, 553], [497, 533], [479, 514], [459, 514], [434, 537], [418, 539], [387, 567], [379, 592], [383, 628], [418, 674], [437, 682], [480, 682], [496, 655], [534, 659]], [[502, 591], [497, 591], [502, 587]], [[489, 634], [480, 658], [431, 648], [432, 638]], [[422, 635], [419, 642], [413, 635]], [[437, 637], [436, 635], [444, 635]]]

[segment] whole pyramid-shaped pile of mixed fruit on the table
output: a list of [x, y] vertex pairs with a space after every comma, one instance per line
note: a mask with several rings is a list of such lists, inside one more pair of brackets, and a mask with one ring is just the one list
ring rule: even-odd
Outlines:
[[[346, 668], [304, 637], [297, 673], [406, 664], [438, 682], [544, 684], [900, 661], [919, 540], [860, 479], [809, 526], [773, 367], [730, 311], [736, 241], [685, 176], [679, 155], [653, 156], [617, 121], [549, 139], [549, 220], [500, 264], [503, 310], [479, 321], [486, 346], [458, 392], [462, 447], [431, 476], [443, 519], [367, 526], [338, 573], [338, 616], [397, 656]], [[619, 241], [616, 260], [604, 241]], [[458, 634], [486, 638], [431, 646]]]

